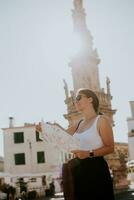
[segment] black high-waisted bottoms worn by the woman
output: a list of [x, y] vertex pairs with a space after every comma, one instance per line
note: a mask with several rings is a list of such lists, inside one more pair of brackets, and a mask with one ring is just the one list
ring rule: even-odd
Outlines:
[[77, 159], [72, 174], [76, 200], [114, 200], [110, 171], [103, 157]]

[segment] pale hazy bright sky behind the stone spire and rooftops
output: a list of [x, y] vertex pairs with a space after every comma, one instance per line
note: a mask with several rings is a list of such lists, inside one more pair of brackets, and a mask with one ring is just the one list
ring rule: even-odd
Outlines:
[[[102, 88], [111, 80], [116, 142], [128, 142], [134, 100], [134, 1], [83, 0], [87, 27], [101, 62]], [[44, 121], [67, 127], [63, 79], [73, 90], [68, 64], [75, 46], [73, 0], [0, 0], [0, 155], [2, 128]]]

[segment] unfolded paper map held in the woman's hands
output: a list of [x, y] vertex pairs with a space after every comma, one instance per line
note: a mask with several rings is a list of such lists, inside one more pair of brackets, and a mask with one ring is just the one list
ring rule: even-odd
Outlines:
[[71, 152], [71, 150], [80, 149], [80, 141], [62, 130], [57, 125], [41, 122], [41, 139], [57, 147], [61, 151]]

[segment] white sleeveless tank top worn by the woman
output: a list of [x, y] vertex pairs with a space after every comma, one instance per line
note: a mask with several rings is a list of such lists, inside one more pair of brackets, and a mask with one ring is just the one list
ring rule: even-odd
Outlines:
[[80, 150], [91, 151], [104, 146], [102, 139], [97, 130], [97, 121], [100, 115], [98, 115], [90, 128], [78, 133], [75, 132], [73, 137], [80, 140]]

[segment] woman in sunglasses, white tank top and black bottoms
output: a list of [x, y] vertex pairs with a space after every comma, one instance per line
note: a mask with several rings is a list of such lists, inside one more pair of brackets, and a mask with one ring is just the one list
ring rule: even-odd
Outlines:
[[98, 115], [99, 100], [91, 90], [79, 89], [75, 104], [82, 114], [78, 125], [68, 129], [80, 140], [80, 149], [72, 151], [77, 159], [73, 169], [75, 199], [114, 200], [112, 179], [103, 158], [114, 151], [110, 122], [105, 115]]

